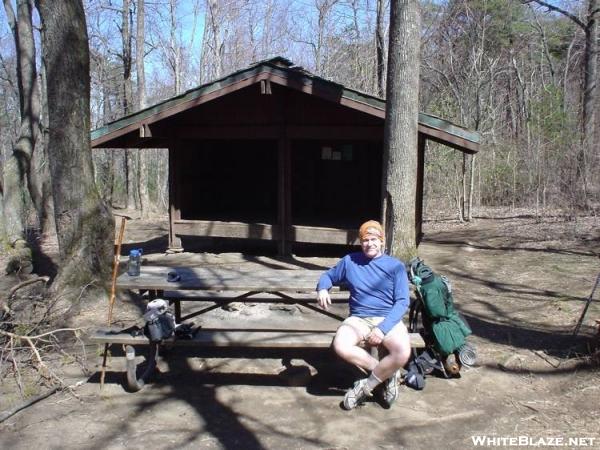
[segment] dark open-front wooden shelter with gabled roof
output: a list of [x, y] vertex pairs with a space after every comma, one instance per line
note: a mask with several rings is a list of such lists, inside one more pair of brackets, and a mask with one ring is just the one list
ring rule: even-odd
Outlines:
[[[385, 101], [276, 57], [92, 132], [93, 148], [169, 149], [169, 246], [183, 236], [350, 244], [380, 216]], [[425, 142], [475, 153], [479, 136], [419, 115]]]

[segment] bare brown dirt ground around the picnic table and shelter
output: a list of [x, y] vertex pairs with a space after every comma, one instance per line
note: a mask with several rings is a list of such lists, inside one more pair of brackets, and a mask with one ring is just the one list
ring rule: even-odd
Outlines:
[[[88, 372], [67, 358], [56, 362], [69, 384], [83, 384], [0, 423], [0, 447], [462, 449], [477, 446], [479, 436], [497, 447], [600, 448], [595, 350], [600, 292], [580, 337], [571, 337], [600, 272], [600, 219], [536, 220], [490, 211], [470, 224], [426, 223], [425, 233], [420, 256], [450, 278], [457, 307], [473, 329], [469, 341], [477, 349], [477, 365], [463, 368], [460, 378], [429, 376], [423, 391], [403, 386], [389, 410], [369, 401], [344, 411], [340, 402], [356, 374], [329, 350], [213, 349], [194, 355], [173, 350], [160, 361], [153, 383], [129, 393], [123, 384], [124, 358], [117, 352], [100, 390], [100, 351], [87, 345], [81, 361]], [[123, 252], [134, 247], [144, 248], [144, 264], [247, 268], [326, 268], [345, 251], [324, 255], [321, 250], [322, 256], [309, 257], [301, 256], [308, 250], [300, 249], [285, 260], [248, 256], [234, 248], [166, 255], [164, 221], [130, 222]], [[72, 325], [87, 332], [102, 326], [105, 302], [86, 302]], [[118, 325], [135, 323], [142, 307], [121, 296]], [[301, 308], [264, 309], [252, 302], [215, 314], [235, 321], [312, 320]], [[10, 375], [5, 371], [2, 376], [0, 411], [17, 400], [10, 392]]]

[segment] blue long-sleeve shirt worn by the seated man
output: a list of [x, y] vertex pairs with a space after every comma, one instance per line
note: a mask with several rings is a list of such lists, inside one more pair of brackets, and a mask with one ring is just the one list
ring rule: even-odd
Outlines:
[[372, 259], [362, 252], [346, 255], [321, 275], [317, 291], [340, 283], [350, 289], [350, 315], [384, 317], [378, 325], [383, 334], [400, 322], [408, 309], [406, 268], [389, 255]]

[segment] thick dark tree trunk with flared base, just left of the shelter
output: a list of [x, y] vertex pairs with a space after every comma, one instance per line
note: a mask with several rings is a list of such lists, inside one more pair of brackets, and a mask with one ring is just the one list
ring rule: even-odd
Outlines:
[[57, 292], [103, 287], [111, 273], [114, 224], [102, 202], [90, 145], [90, 67], [81, 0], [37, 0], [48, 87], [48, 153], [61, 258]]

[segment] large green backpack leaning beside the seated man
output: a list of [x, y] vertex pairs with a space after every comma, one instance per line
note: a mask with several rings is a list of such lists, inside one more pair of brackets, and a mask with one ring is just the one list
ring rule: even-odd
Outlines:
[[423, 325], [434, 347], [444, 356], [454, 353], [472, 331], [454, 309], [450, 282], [434, 273], [420, 258], [412, 259], [409, 268], [410, 281], [423, 305]]

